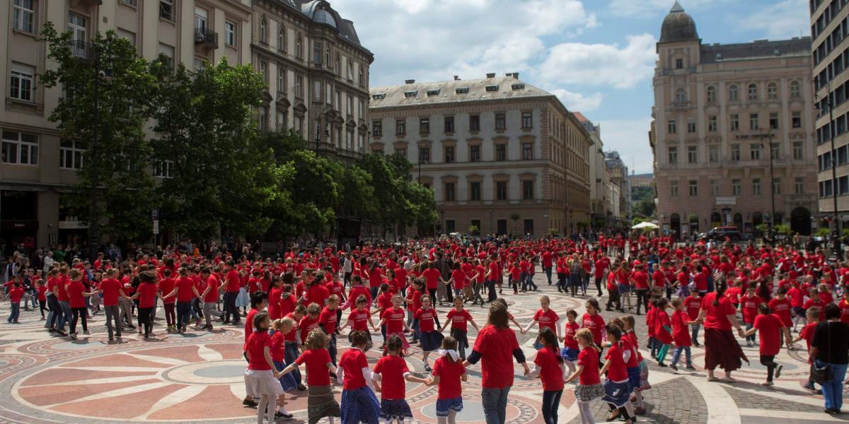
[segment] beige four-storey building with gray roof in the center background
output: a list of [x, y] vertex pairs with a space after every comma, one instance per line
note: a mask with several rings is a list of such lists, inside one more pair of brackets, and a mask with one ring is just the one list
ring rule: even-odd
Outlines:
[[372, 87], [369, 108], [371, 150], [413, 163], [436, 196], [436, 232], [542, 236], [588, 222], [593, 141], [518, 73]]

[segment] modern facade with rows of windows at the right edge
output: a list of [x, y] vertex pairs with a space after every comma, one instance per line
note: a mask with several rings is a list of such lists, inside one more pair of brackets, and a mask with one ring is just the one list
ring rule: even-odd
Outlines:
[[[811, 0], [812, 68], [816, 111], [818, 198], [821, 216], [849, 216], [849, 7], [846, 1]], [[834, 135], [834, 137], [832, 137]], [[834, 145], [832, 146], [832, 142]], [[832, 167], [836, 167], [832, 169]], [[824, 224], [828, 224], [824, 222]]]

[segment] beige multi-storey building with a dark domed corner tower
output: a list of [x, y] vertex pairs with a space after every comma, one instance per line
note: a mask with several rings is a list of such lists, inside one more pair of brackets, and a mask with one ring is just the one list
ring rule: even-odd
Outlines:
[[772, 219], [810, 233], [817, 172], [810, 38], [702, 44], [675, 3], [657, 53], [649, 142], [661, 229], [686, 236], [728, 225], [751, 233]]

